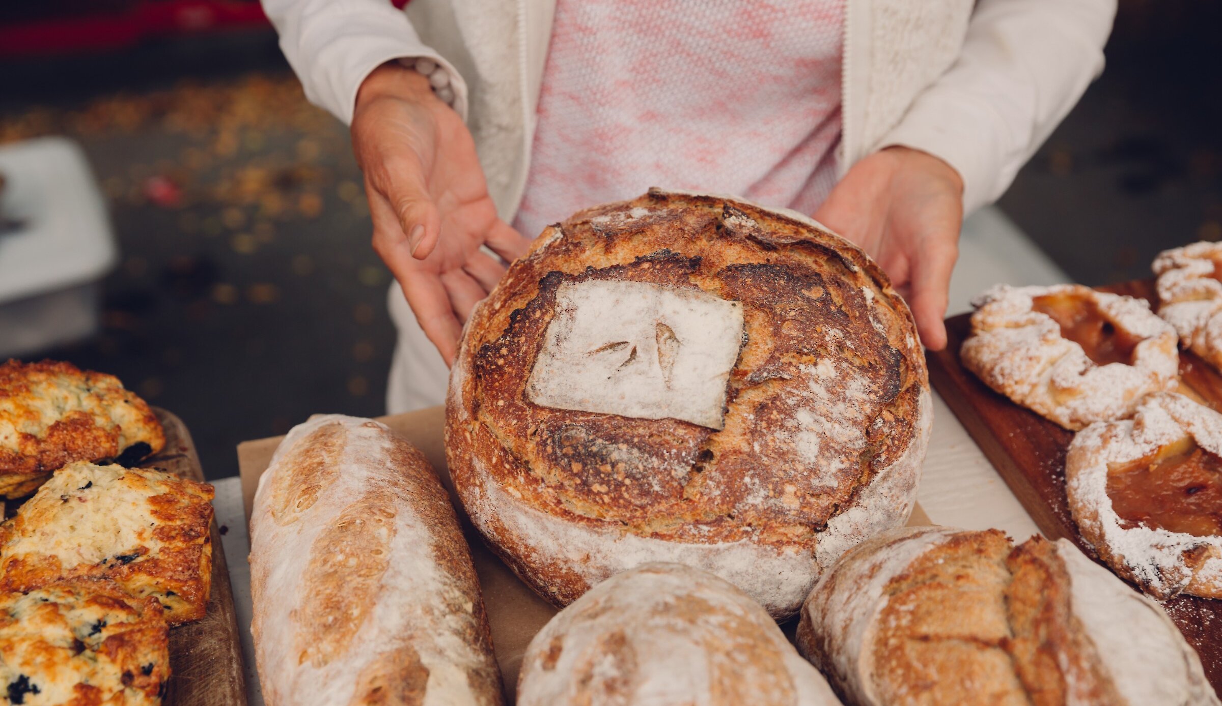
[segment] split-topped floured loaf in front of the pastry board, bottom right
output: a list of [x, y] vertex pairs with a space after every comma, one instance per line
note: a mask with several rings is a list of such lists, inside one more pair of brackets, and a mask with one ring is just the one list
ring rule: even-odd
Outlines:
[[871, 706], [1217, 705], [1162, 607], [1067, 540], [908, 528], [844, 555], [798, 650]]

